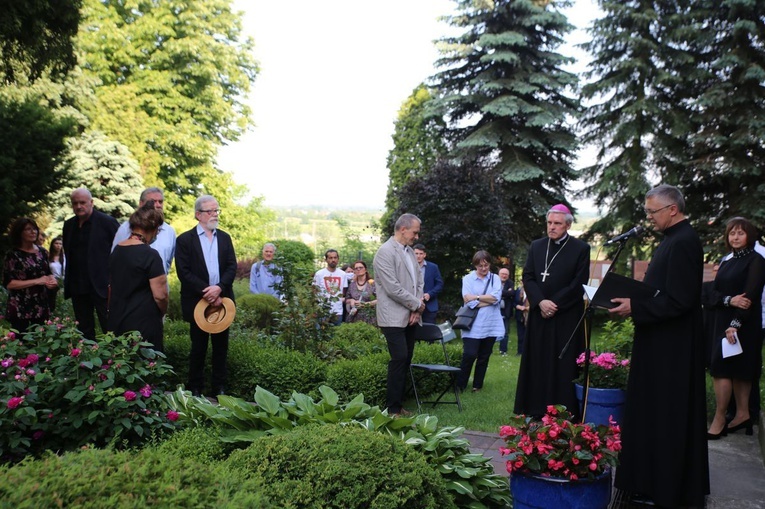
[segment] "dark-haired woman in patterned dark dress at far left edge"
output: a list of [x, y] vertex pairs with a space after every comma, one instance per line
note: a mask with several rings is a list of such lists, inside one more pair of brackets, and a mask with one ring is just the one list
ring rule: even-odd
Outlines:
[[48, 291], [58, 288], [48, 253], [36, 243], [39, 231], [37, 223], [28, 217], [14, 221], [10, 231], [13, 249], [3, 263], [3, 286], [8, 290], [5, 316], [19, 332], [50, 317]]

